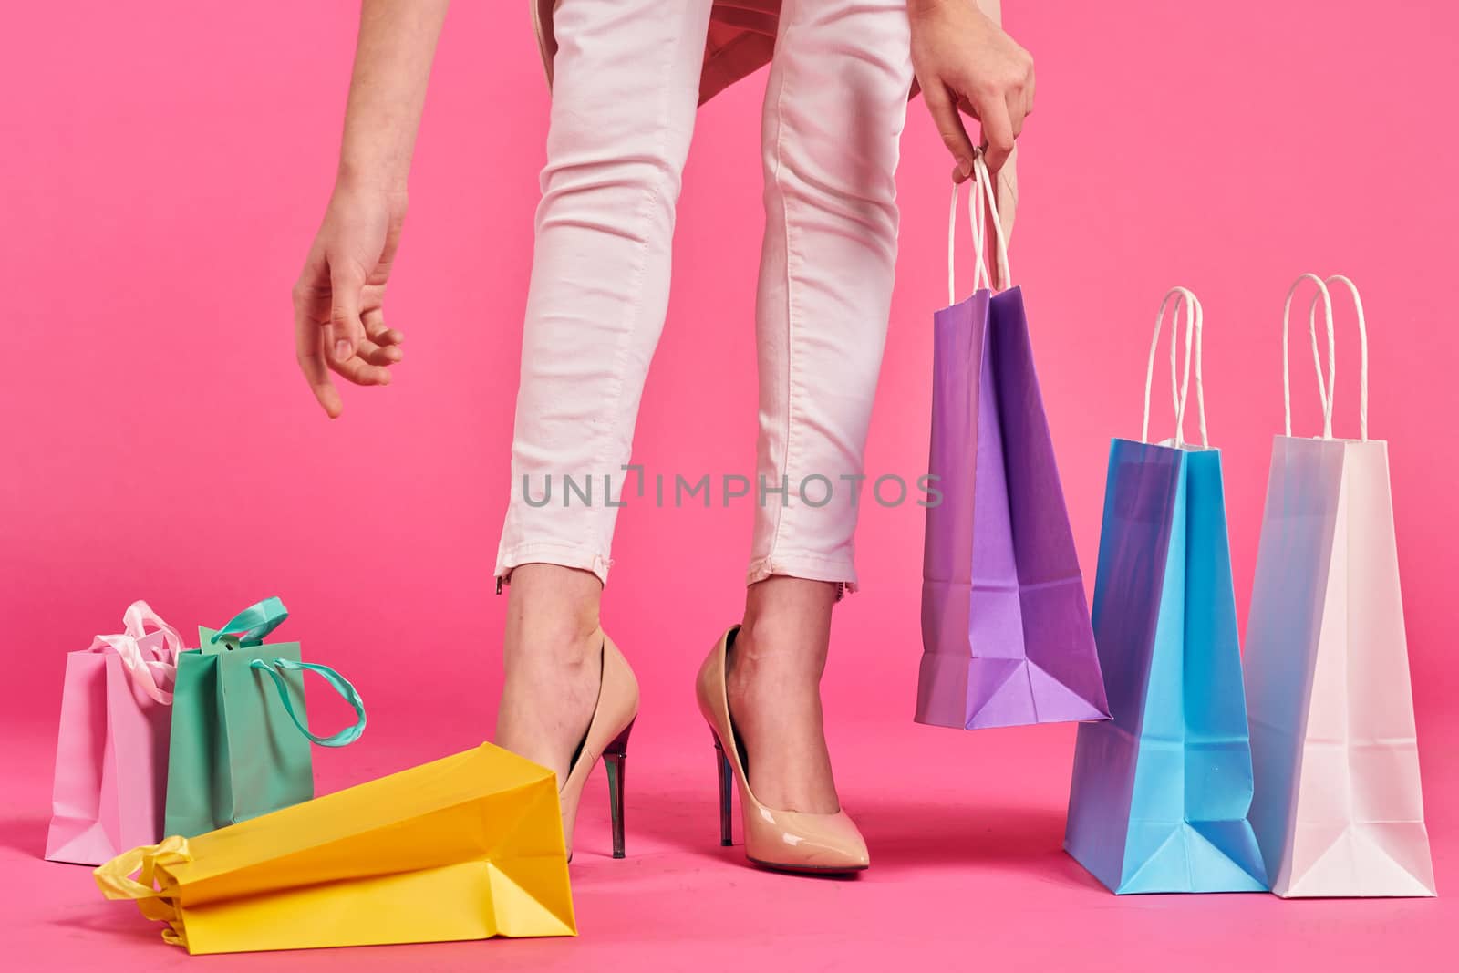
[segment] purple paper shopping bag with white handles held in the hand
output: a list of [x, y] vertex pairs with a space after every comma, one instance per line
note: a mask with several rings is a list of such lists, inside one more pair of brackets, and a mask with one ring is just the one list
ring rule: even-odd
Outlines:
[[[978, 283], [983, 206], [992, 190], [975, 165]], [[989, 204], [991, 206], [991, 204]], [[1088, 600], [1053, 442], [1033, 366], [1023, 293], [991, 286], [934, 318], [932, 445], [922, 560], [922, 668], [916, 721], [979, 729], [1109, 719]], [[996, 212], [1001, 277], [1007, 252]]]

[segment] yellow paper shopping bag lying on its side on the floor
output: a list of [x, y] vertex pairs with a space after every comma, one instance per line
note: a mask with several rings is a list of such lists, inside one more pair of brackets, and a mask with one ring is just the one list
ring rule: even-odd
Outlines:
[[492, 744], [133, 849], [96, 884], [193, 954], [578, 932], [556, 778]]

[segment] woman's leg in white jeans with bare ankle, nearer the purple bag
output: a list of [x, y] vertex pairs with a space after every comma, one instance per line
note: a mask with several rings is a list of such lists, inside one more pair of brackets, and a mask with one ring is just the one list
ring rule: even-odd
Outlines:
[[785, 0], [765, 98], [759, 471], [769, 490], [756, 512], [730, 706], [756, 795], [786, 810], [837, 808], [818, 684], [830, 607], [856, 582], [852, 534], [891, 303], [909, 47], [905, 0]]

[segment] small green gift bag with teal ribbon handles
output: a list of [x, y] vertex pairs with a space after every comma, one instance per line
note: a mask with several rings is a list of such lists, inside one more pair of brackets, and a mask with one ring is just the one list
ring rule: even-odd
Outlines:
[[[194, 837], [309, 801], [311, 741], [343, 747], [365, 732], [365, 705], [343, 675], [299, 661], [298, 642], [263, 643], [287, 617], [267, 598], [219, 630], [200, 627], [201, 648], [178, 655], [163, 834]], [[355, 708], [353, 726], [333, 737], [309, 731], [305, 671]]]

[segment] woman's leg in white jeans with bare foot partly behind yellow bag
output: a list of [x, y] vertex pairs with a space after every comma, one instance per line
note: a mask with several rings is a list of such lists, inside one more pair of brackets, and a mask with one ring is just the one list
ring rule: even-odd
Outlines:
[[[560, 0], [512, 489], [498, 743], [562, 780], [598, 691], [598, 600], [668, 305], [711, 0]], [[569, 487], [568, 478], [572, 484]], [[543, 503], [543, 497], [549, 497]]]

